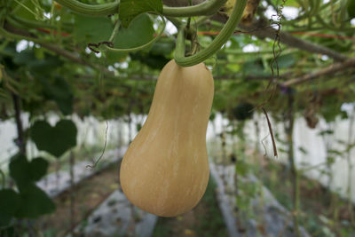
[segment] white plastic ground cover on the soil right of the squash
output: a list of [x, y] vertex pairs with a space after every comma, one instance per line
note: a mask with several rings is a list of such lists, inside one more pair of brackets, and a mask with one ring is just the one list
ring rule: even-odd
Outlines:
[[[235, 211], [235, 166], [210, 163], [209, 168], [217, 183], [217, 201], [230, 237], [296, 236], [292, 231], [291, 214], [272, 196], [265, 186], [262, 186], [260, 194], [256, 194], [250, 201], [249, 209], [255, 213], [255, 217], [242, 215], [243, 220], [238, 219]], [[256, 183], [258, 180], [254, 175], [249, 174], [247, 178], [239, 177], [239, 182]], [[243, 226], [239, 226], [239, 223], [242, 223]], [[241, 229], [243, 229], [242, 233]], [[264, 233], [261, 233], [261, 231]], [[303, 237], [309, 236], [303, 227], [300, 227], [300, 233]]]

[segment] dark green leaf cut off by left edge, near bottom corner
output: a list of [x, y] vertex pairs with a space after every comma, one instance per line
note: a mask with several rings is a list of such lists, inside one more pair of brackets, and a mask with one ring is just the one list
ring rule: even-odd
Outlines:
[[0, 190], [0, 227], [10, 224], [13, 215], [20, 207], [20, 194], [12, 189]]

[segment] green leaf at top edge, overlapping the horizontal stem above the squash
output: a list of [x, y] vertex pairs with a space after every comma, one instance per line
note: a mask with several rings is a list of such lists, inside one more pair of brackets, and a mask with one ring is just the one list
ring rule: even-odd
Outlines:
[[162, 13], [162, 0], [121, 0], [118, 16], [123, 28], [144, 12]]

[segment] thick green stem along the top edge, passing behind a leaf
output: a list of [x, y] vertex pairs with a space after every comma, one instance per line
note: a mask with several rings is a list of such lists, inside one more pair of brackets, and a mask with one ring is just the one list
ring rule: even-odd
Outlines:
[[[118, 13], [119, 2], [110, 4], [83, 4], [76, 0], [57, 0], [57, 2], [73, 12], [90, 16], [107, 16]], [[201, 4], [185, 7], [167, 7], [164, 6], [162, 14], [170, 17], [191, 17], [202, 15], [213, 15], [217, 12], [226, 0], [209, 0]]]

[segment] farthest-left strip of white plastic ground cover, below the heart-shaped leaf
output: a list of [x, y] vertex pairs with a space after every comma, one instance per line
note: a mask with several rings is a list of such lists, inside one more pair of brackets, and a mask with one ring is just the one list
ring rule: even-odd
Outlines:
[[[98, 168], [88, 168], [87, 165], [90, 162], [77, 162], [74, 165], [74, 184], [78, 184], [86, 178], [90, 178], [96, 174], [99, 170], [105, 169], [108, 165], [119, 162], [122, 159], [123, 154], [126, 152], [127, 147], [121, 147], [114, 150], [106, 151], [101, 159], [102, 165]], [[69, 171], [59, 171], [57, 173], [51, 173], [37, 182], [43, 191], [51, 198], [54, 198], [70, 188], [70, 173]]]

